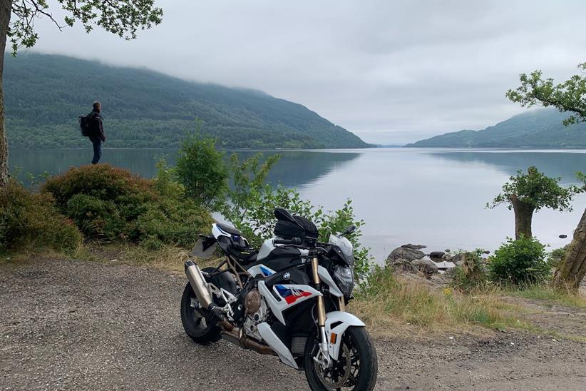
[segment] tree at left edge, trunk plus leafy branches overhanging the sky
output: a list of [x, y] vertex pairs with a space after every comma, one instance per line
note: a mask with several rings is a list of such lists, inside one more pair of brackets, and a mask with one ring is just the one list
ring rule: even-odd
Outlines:
[[78, 21], [88, 33], [93, 26], [100, 26], [120, 38], [134, 39], [138, 29], [160, 24], [163, 16], [154, 0], [58, 0], [58, 4], [66, 11], [63, 24], [53, 18], [47, 0], [0, 0], [0, 188], [5, 188], [8, 182], [2, 88], [6, 40], [10, 39], [13, 55], [19, 47], [34, 46], [38, 40], [34, 22], [41, 17], [50, 19], [59, 30]]

